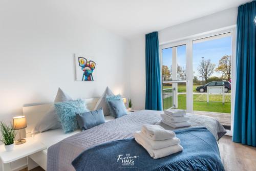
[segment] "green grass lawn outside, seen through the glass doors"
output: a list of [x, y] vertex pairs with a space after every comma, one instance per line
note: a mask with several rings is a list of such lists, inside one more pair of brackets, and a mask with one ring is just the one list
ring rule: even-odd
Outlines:
[[[205, 96], [205, 97], [203, 97]], [[229, 97], [228, 97], [229, 96]], [[170, 108], [168, 106], [168, 100], [172, 100], [172, 97], [168, 97], [163, 100], [164, 109]], [[222, 101], [222, 98], [210, 96], [209, 103], [206, 102], [206, 95], [193, 95], [193, 109], [194, 111], [206, 111], [206, 112], [220, 112], [220, 113], [231, 113], [231, 103], [230, 103], [230, 95], [225, 95], [225, 103], [222, 102], [214, 102], [214, 101]], [[211, 102], [212, 101], [212, 102]], [[180, 94], [178, 95], [178, 109], [186, 109], [186, 95]]]

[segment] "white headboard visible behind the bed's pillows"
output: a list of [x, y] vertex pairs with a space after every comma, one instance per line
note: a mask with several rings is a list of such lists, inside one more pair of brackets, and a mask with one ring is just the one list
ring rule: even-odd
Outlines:
[[[94, 110], [94, 107], [98, 100], [99, 98], [90, 98], [84, 99], [83, 101], [86, 102], [87, 109]], [[48, 103], [26, 106], [23, 108], [23, 114], [25, 115], [27, 120], [26, 134], [29, 134], [33, 131], [35, 124], [47, 114], [48, 110], [52, 105], [53, 103]]]

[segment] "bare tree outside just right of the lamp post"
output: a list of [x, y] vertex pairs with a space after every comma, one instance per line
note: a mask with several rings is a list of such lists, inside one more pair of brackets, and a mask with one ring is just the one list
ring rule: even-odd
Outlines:
[[[205, 82], [209, 79], [209, 77], [214, 73], [215, 64], [210, 62], [210, 59], [204, 61], [200, 61], [200, 65], [197, 68], [199, 72], [199, 77], [203, 77]], [[204, 74], [204, 75], [203, 75]]]

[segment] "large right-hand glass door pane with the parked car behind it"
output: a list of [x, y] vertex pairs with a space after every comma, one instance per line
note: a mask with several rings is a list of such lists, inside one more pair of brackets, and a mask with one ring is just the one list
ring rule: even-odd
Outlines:
[[193, 41], [194, 114], [213, 117], [231, 129], [232, 34]]

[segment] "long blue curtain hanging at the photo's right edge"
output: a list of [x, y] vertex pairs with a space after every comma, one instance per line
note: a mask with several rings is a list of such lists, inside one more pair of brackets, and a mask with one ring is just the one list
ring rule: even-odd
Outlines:
[[237, 87], [233, 141], [256, 146], [256, 2], [241, 5], [237, 20]]

